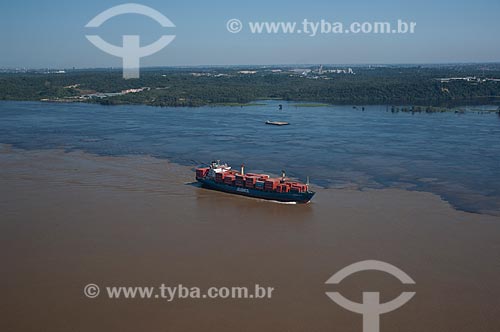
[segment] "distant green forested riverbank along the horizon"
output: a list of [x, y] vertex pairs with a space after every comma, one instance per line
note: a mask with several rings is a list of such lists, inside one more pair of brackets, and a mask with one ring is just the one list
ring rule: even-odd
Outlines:
[[309, 106], [500, 105], [499, 64], [305, 69], [159, 68], [131, 80], [118, 70], [0, 73], [0, 100], [165, 107], [245, 106], [260, 99]]

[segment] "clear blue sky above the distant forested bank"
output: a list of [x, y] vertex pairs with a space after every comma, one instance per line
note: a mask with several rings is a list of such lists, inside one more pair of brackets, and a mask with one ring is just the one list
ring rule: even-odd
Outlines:
[[[377, 64], [500, 61], [500, 1], [133, 1], [155, 8], [175, 28], [161, 28], [141, 15], [115, 17], [85, 28], [97, 14], [127, 1], [3, 1], [0, 4], [0, 67], [120, 67], [121, 59], [94, 47], [86, 34], [120, 45], [124, 34], [149, 44], [162, 34], [176, 39], [143, 58], [142, 66], [238, 64]], [[397, 19], [417, 23], [406, 35], [231, 34], [228, 19], [346, 24]]]

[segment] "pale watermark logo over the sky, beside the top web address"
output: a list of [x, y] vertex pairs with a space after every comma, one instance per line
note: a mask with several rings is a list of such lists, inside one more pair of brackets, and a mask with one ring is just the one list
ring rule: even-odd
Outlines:
[[[162, 13], [135, 3], [128, 3], [109, 8], [96, 17], [94, 17], [87, 25], [86, 28], [97, 28], [107, 20], [123, 15], [123, 14], [140, 14], [147, 16], [158, 22], [164, 28], [174, 28], [175, 25]], [[139, 78], [140, 59], [159, 52], [170, 44], [175, 35], [163, 35], [157, 41], [147, 46], [140, 46], [140, 36], [138, 35], [124, 35], [122, 47], [109, 44], [97, 35], [86, 35], [87, 39], [102, 51], [120, 57], [123, 59], [123, 78]]]

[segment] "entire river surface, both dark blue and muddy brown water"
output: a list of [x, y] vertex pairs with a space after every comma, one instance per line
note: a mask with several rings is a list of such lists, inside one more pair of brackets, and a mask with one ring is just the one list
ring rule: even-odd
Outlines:
[[[263, 103], [0, 102], [0, 331], [362, 331], [334, 291], [415, 292], [381, 315], [384, 332], [500, 331], [498, 115]], [[277, 204], [193, 185], [211, 159], [310, 176], [316, 195]], [[415, 284], [380, 271], [325, 284], [365, 260]], [[274, 292], [108, 295], [162, 285]]]

